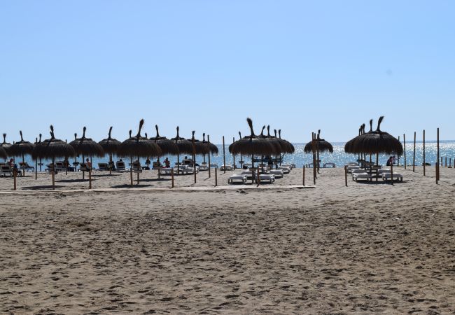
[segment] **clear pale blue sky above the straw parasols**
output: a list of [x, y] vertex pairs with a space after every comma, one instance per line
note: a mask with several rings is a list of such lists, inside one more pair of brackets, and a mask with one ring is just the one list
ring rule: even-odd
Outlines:
[[[455, 139], [455, 1], [1, 1], [0, 132]], [[149, 136], [150, 137], [150, 136]]]

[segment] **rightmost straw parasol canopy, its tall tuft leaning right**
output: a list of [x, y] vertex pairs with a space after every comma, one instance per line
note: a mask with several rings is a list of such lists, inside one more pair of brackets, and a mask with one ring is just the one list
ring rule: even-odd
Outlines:
[[379, 118], [376, 130], [370, 130], [370, 132], [356, 138], [353, 142], [353, 153], [402, 155], [401, 142], [391, 134], [381, 131], [382, 120], [384, 120], [384, 116]]

